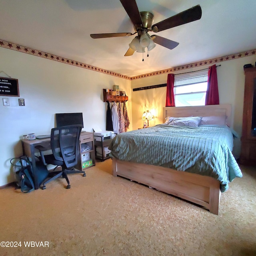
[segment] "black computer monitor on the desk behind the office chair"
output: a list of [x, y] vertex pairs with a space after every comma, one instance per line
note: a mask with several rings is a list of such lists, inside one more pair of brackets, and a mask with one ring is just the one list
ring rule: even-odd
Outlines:
[[84, 127], [83, 113], [57, 113], [56, 127], [79, 124]]

